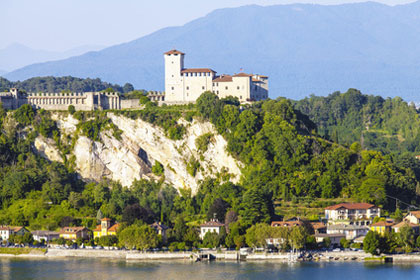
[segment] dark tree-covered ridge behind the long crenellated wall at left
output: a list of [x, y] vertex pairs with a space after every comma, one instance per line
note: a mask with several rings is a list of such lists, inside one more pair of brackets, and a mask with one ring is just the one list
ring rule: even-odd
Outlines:
[[67, 77], [34, 77], [24, 81], [11, 82], [0, 77], [0, 92], [9, 90], [10, 88], [18, 88], [26, 92], [94, 92], [102, 91], [107, 88], [113, 88], [117, 92], [126, 93], [134, 90], [131, 84], [120, 86], [102, 82], [96, 79], [80, 79], [71, 76]]

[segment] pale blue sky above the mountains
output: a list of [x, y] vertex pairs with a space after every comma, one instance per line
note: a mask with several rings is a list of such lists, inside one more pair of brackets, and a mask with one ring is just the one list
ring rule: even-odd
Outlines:
[[[357, 0], [0, 0], [0, 49], [21, 43], [64, 51], [82, 45], [110, 46], [160, 28], [182, 25], [212, 10], [249, 4], [341, 4]], [[388, 5], [413, 0], [378, 0]]]

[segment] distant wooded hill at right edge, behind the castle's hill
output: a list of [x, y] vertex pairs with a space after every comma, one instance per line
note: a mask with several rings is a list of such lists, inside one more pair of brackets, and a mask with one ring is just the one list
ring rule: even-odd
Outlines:
[[384, 153], [420, 153], [420, 118], [414, 104], [355, 89], [327, 97], [311, 96], [296, 108], [316, 123], [318, 133], [337, 143], [359, 142]]

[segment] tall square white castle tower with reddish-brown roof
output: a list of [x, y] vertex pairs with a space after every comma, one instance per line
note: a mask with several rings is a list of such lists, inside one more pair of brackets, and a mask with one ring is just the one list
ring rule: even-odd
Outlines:
[[184, 69], [184, 53], [171, 50], [164, 53], [165, 58], [165, 100], [183, 100], [183, 78], [181, 70]]

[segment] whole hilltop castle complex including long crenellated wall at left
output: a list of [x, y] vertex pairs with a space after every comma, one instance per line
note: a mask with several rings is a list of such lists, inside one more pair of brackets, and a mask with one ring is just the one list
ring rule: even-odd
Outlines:
[[[171, 50], [164, 53], [165, 93], [149, 92], [151, 101], [160, 104], [193, 103], [205, 91], [219, 98], [237, 97], [240, 102], [252, 102], [268, 98], [268, 77], [239, 73], [216, 75], [209, 68], [184, 68], [185, 54]], [[37, 109], [68, 110], [70, 105], [77, 111], [140, 109], [139, 99], [124, 99], [117, 92], [83, 93], [22, 93], [12, 88], [0, 93], [0, 103], [5, 109], [17, 109], [30, 104]]]

